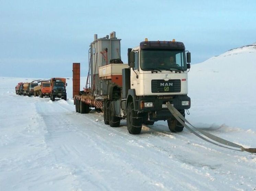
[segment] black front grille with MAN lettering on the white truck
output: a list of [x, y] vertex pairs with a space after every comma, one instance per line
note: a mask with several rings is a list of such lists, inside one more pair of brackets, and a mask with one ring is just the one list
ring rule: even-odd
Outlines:
[[151, 80], [152, 93], [181, 92], [181, 80]]

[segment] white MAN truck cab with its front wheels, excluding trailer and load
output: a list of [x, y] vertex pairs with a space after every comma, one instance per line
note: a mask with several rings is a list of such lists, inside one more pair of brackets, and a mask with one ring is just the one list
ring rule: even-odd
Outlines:
[[128, 49], [130, 68], [123, 69], [123, 84], [129, 85], [123, 85], [121, 109], [126, 115], [129, 133], [138, 134], [143, 123], [153, 124], [159, 120], [167, 120], [172, 132], [183, 131], [184, 127], [166, 104], [170, 102], [185, 117], [185, 110], [190, 108], [189, 63], [190, 53], [186, 56], [184, 44], [175, 40], [145, 40], [138, 47]]

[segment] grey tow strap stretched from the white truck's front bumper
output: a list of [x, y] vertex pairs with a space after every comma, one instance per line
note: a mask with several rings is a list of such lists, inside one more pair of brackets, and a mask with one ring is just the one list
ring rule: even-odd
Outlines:
[[[198, 129], [196, 128], [195, 126], [193, 126], [191, 123], [189, 123], [184, 117], [183, 115], [177, 110], [175, 109], [175, 107], [173, 107], [170, 102], [168, 102], [167, 104], [167, 108], [170, 110], [170, 112], [172, 113], [172, 115], [175, 117], [175, 119], [181, 123], [184, 127], [186, 127], [191, 133], [195, 134], [196, 136], [198, 136], [199, 138], [207, 141], [207, 142], [210, 142], [211, 144], [213, 145], [217, 145], [219, 147], [224, 147], [224, 148], [227, 148], [227, 149], [232, 149], [232, 150], [236, 150], [236, 151], [246, 151], [246, 152], [250, 152], [250, 153], [256, 153], [256, 148], [244, 148], [243, 146], [241, 145], [237, 145], [235, 144], [234, 142], [230, 142], [228, 140], [225, 140], [225, 139], [222, 139], [220, 137], [217, 137], [215, 135], [212, 135], [208, 132], [205, 132], [201, 129]], [[191, 127], [193, 127], [195, 130], [193, 130], [192, 128], [190, 128], [187, 124], [185, 124], [185, 122], [187, 124], [189, 124]], [[196, 132], [197, 131], [197, 132]], [[201, 133], [202, 135], [208, 137], [209, 139], [207, 139], [206, 137], [200, 135], [199, 133]], [[213, 142], [213, 141], [216, 141], [216, 142]], [[222, 145], [221, 145], [222, 144]], [[223, 145], [226, 145], [226, 146], [223, 146]], [[228, 146], [228, 147], [227, 147]], [[235, 148], [238, 148], [238, 149], [235, 149]]]

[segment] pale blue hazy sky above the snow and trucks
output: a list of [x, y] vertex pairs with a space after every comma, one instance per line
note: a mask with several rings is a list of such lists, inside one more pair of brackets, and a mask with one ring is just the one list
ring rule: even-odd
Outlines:
[[0, 0], [0, 76], [87, 75], [88, 49], [116, 31], [121, 57], [144, 38], [184, 42], [192, 64], [256, 41], [256, 1]]

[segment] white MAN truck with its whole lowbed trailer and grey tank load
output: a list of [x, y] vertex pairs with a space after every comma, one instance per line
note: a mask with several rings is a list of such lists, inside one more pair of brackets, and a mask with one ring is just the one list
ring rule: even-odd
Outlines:
[[145, 39], [139, 46], [128, 49], [128, 64], [123, 64], [120, 40], [115, 32], [104, 38], [94, 35], [83, 91], [77, 89], [80, 64], [73, 63], [76, 111], [89, 113], [90, 107], [102, 109], [105, 124], [112, 127], [118, 127], [121, 119], [127, 119], [130, 134], [139, 134], [142, 124], [159, 120], [167, 120], [172, 132], [183, 131], [184, 126], [173, 117], [166, 104], [170, 102], [184, 117], [185, 110], [190, 108], [187, 96], [190, 53], [185, 51], [184, 44], [175, 39]]

